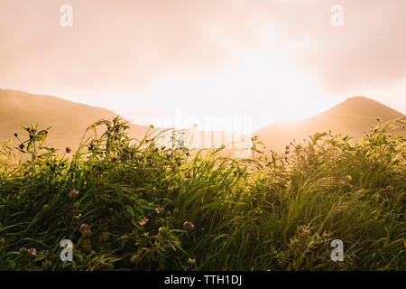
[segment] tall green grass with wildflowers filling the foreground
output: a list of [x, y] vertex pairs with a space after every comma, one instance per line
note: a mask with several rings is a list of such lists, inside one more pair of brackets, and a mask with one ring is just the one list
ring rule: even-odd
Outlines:
[[160, 147], [152, 130], [133, 140], [118, 117], [61, 154], [42, 146], [48, 129], [24, 126], [17, 147], [0, 146], [0, 269], [405, 270], [406, 139], [386, 126], [285, 154], [254, 137], [247, 160]]

